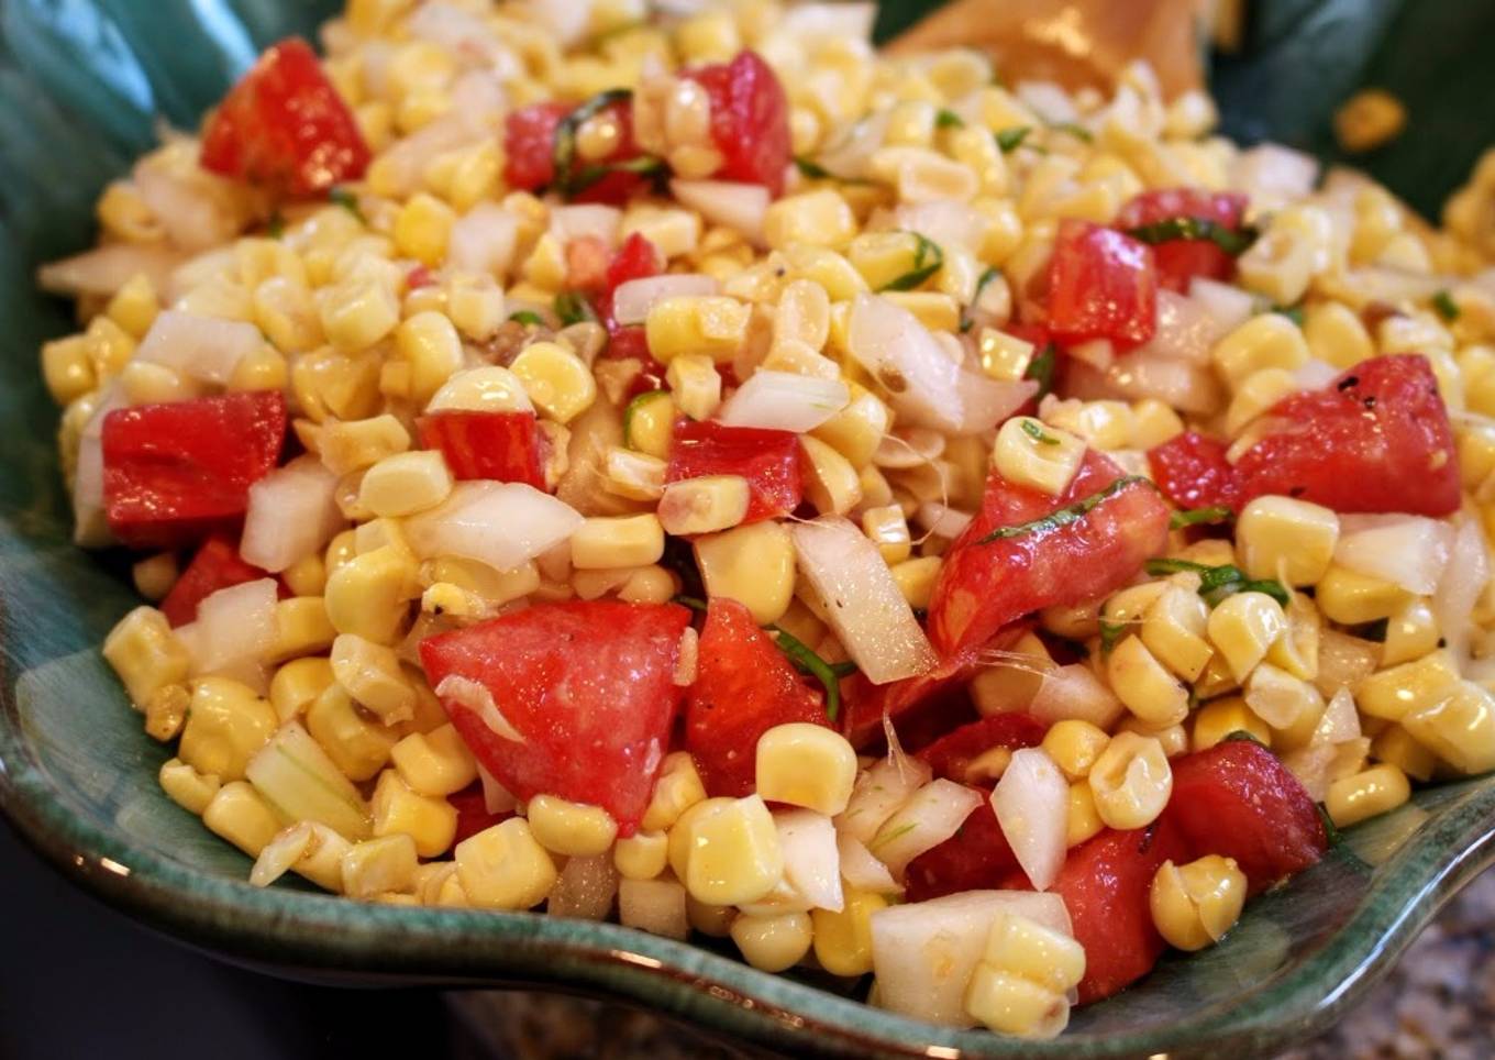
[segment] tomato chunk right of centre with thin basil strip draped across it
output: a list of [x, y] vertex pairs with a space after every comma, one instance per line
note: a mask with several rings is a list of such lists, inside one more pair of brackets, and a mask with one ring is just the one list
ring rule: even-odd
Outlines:
[[1029, 611], [1096, 600], [1126, 585], [1168, 543], [1168, 505], [1147, 483], [1124, 486], [1088, 514], [1042, 532], [982, 544], [1003, 526], [1052, 514], [1114, 486], [1121, 469], [1090, 450], [1061, 496], [1014, 486], [996, 471], [981, 511], [945, 553], [930, 600], [928, 634], [958, 656]]

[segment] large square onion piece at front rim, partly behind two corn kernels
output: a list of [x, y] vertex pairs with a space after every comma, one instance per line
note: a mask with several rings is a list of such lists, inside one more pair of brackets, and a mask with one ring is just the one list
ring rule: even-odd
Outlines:
[[966, 891], [879, 909], [872, 915], [876, 1003], [916, 1020], [975, 1026], [966, 1012], [966, 985], [999, 913], [1073, 933], [1064, 900], [1036, 891]]

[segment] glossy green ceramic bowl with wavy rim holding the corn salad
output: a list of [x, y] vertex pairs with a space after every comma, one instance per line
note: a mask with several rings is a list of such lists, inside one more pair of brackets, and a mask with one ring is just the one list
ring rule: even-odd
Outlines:
[[57, 420], [34, 368], [69, 315], [34, 292], [31, 271], [87, 245], [94, 194], [148, 144], [154, 114], [193, 121], [262, 43], [305, 31], [314, 7], [326, 4], [0, 4], [0, 809], [69, 879], [187, 945], [283, 975], [607, 994], [792, 1054], [1248, 1056], [1341, 1015], [1495, 860], [1495, 779], [1422, 792], [1251, 903], [1223, 945], [1165, 958], [1039, 1045], [904, 1020], [828, 981], [613, 924], [251, 888], [248, 860], [157, 788], [166, 752], [99, 658], [135, 601], [117, 558], [69, 543]]

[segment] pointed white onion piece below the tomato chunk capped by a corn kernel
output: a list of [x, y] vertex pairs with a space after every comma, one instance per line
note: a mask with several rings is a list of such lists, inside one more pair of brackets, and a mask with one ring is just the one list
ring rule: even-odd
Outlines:
[[405, 534], [422, 559], [462, 556], [508, 571], [570, 538], [582, 522], [576, 508], [534, 486], [462, 481], [408, 519]]

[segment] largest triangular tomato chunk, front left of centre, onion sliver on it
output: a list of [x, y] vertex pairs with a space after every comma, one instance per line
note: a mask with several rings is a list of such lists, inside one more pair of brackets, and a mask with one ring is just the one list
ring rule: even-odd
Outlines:
[[[691, 613], [677, 604], [537, 604], [428, 637], [432, 688], [483, 767], [520, 800], [601, 806], [631, 836], [649, 806], [685, 689], [674, 683]], [[493, 727], [511, 728], [522, 742]], [[507, 724], [507, 725], [505, 725]]]

